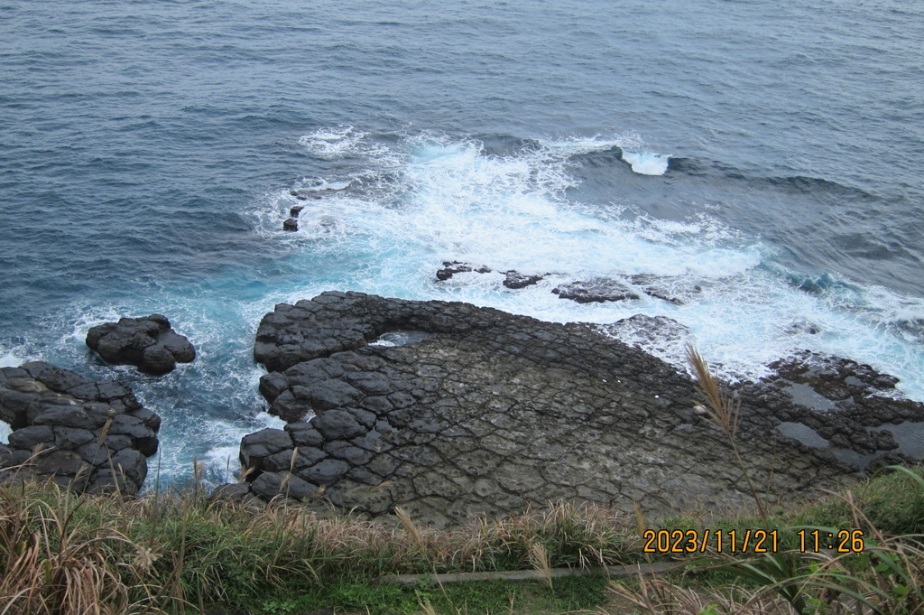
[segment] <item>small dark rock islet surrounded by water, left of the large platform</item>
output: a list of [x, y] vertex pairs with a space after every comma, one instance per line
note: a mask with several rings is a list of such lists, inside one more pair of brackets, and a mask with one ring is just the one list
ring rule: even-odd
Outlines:
[[161, 314], [94, 326], [87, 332], [87, 346], [106, 363], [135, 365], [151, 375], [167, 374], [176, 363], [191, 363], [196, 358], [189, 340], [178, 335]]

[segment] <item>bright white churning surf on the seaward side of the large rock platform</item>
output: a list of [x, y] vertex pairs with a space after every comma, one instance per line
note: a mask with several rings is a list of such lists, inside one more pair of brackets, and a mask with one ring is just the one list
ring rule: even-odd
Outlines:
[[[890, 325], [924, 314], [916, 301], [909, 306], [910, 300], [884, 289], [856, 286], [821, 295], [797, 289], [785, 272], [768, 266], [772, 254], [760, 238], [727, 228], [705, 212], [663, 220], [616, 206], [626, 203], [623, 194], [614, 194], [609, 208], [565, 196], [578, 188], [570, 166], [574, 155], [614, 146], [625, 153], [640, 145], [637, 136], [628, 135], [542, 142], [516, 154], [487, 155], [478, 141], [411, 139], [402, 145], [409, 155], [399, 156], [403, 165], [391, 193], [325, 203], [323, 215], [334, 217], [342, 232], [315, 232], [298, 250], [343, 259], [340, 275], [331, 276], [340, 288], [469, 301], [556, 322], [603, 324], [639, 313], [665, 315], [689, 327], [690, 338], [729, 379], [766, 375], [768, 363], [809, 349], [872, 363], [901, 377], [906, 394], [924, 399], [920, 343], [902, 338]], [[634, 155], [631, 149], [628, 154]], [[635, 163], [644, 163], [645, 156], [638, 156]], [[668, 156], [650, 154], [647, 160], [663, 172]], [[494, 272], [436, 281], [434, 271], [452, 260], [486, 264]], [[551, 275], [510, 290], [498, 273], [507, 269]], [[577, 279], [633, 274], [668, 277], [699, 285], [700, 291], [683, 305], [648, 296], [577, 304], [551, 292]], [[293, 299], [330, 287], [298, 286]], [[886, 307], [893, 304], [894, 310]], [[660, 346], [659, 354], [686, 369], [681, 345]]]

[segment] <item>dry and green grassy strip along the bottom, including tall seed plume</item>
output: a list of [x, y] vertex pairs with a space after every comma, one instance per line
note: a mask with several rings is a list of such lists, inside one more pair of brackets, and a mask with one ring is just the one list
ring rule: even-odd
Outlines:
[[[698, 354], [691, 352], [691, 363]], [[738, 409], [699, 357], [707, 416], [736, 449]], [[689, 615], [924, 615], [924, 478], [894, 469], [843, 494], [707, 525], [774, 529], [778, 552], [707, 552], [686, 570], [610, 584], [551, 569], [641, 562], [645, 523], [600, 507], [552, 503], [506, 519], [436, 531], [401, 510], [377, 523], [320, 517], [276, 501], [259, 509], [201, 486], [142, 498], [73, 496], [54, 483], [0, 486], [0, 615], [336, 612], [476, 615], [565, 612]], [[800, 529], [862, 530], [861, 552], [801, 553]], [[666, 559], [662, 556], [658, 559]], [[380, 584], [384, 575], [537, 570], [532, 582]]]

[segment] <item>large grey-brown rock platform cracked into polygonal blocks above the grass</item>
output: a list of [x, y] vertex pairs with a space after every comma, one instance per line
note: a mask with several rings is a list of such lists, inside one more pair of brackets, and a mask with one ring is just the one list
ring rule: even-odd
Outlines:
[[[395, 332], [419, 341], [374, 345]], [[590, 326], [325, 292], [267, 314], [254, 356], [288, 424], [244, 438], [249, 483], [226, 487], [238, 496], [371, 516], [401, 506], [437, 526], [559, 498], [655, 516], [752, 505], [725, 437], [693, 412], [690, 379]], [[782, 435], [756, 391], [741, 395], [739, 448], [772, 499], [856, 479]]]

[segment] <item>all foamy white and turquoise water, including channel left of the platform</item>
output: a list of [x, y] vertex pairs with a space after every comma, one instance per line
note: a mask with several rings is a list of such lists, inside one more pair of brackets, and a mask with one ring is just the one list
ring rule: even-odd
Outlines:
[[[344, 132], [344, 139], [354, 134]], [[329, 140], [337, 141], [335, 130]], [[359, 134], [359, 131], [356, 131]], [[366, 137], [352, 154], [363, 156]], [[264, 241], [291, 249], [285, 281], [267, 282], [229, 266], [194, 291], [154, 288], [137, 301], [81, 304], [55, 315], [47, 328], [60, 332], [54, 348], [7, 346], [4, 360], [43, 359], [79, 366], [87, 377], [119, 379], [162, 415], [164, 481], [206, 464], [212, 484], [238, 473], [240, 438], [281, 422], [260, 414], [263, 370], [253, 364], [252, 343], [274, 303], [310, 299], [323, 290], [359, 290], [407, 299], [468, 301], [553, 322], [614, 323], [635, 314], [663, 315], [687, 326], [687, 338], [729, 379], [766, 375], [768, 363], [808, 349], [870, 363], [902, 379], [909, 397], [924, 400], [924, 351], [918, 321], [924, 304], [886, 289], [828, 285], [797, 289], [793, 272], [772, 265], [760, 238], [728, 228], [707, 213], [666, 220], [638, 211], [631, 195], [612, 203], [584, 203], [574, 174], [578, 154], [626, 147], [635, 137], [541, 142], [514, 154], [485, 154], [474, 140], [423, 136], [375, 151], [356, 173], [306, 178], [298, 190], [327, 191], [299, 202], [286, 190], [254, 203], [254, 224]], [[621, 163], [619, 163], [621, 164]], [[339, 168], [339, 167], [338, 167]], [[298, 233], [281, 230], [288, 209], [302, 203]], [[444, 261], [486, 264], [492, 273], [457, 274], [440, 282]], [[544, 278], [507, 289], [514, 269]], [[300, 273], [300, 275], [299, 275]], [[678, 293], [675, 304], [640, 293], [638, 301], [578, 304], [559, 299], [560, 284], [590, 277], [626, 280], [649, 275]], [[699, 290], [696, 288], [699, 287]], [[169, 314], [196, 344], [196, 362], [150, 378], [132, 368], [88, 360], [86, 330], [120, 315]], [[76, 324], [76, 325], [75, 325]], [[626, 329], [626, 340], [685, 369], [681, 338], [647, 339]], [[683, 338], [686, 339], [686, 338]], [[647, 345], [647, 346], [646, 346]], [[2, 352], [0, 352], [2, 354]]]

